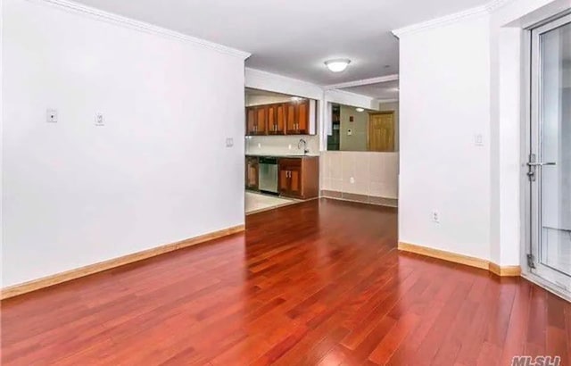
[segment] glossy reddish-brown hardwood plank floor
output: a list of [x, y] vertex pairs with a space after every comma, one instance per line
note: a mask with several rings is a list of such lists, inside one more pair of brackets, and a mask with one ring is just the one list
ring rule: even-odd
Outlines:
[[2, 302], [4, 365], [571, 362], [571, 304], [396, 250], [395, 209], [322, 199]]

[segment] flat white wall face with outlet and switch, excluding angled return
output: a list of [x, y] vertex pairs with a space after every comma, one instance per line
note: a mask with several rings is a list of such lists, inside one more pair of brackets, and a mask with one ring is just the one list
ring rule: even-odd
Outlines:
[[401, 35], [400, 50], [399, 240], [488, 259], [489, 16]]

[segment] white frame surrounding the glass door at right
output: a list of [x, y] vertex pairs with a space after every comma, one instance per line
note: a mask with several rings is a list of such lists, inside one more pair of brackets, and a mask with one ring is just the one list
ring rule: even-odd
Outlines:
[[[541, 223], [541, 212], [537, 212], [536, 215], [532, 214], [533, 207], [538, 207], [539, 204], [539, 194], [541, 194], [541, 186], [539, 184], [532, 187], [532, 182], [528, 179], [526, 173], [528, 172], [528, 167], [526, 162], [530, 161], [531, 154], [534, 152], [534, 147], [541, 147], [539, 145], [541, 133], [541, 124], [539, 122], [539, 111], [540, 108], [534, 108], [539, 104], [539, 83], [535, 82], [534, 79], [539, 79], [539, 70], [541, 65], [539, 64], [540, 54], [539, 52], [534, 54], [535, 42], [538, 42], [539, 37], [534, 38], [534, 33], [538, 29], [542, 29], [540, 35], [544, 32], [556, 29], [563, 24], [567, 24], [571, 20], [571, 13], [564, 12], [549, 19], [542, 21], [541, 23], [534, 24], [525, 29], [522, 50], [525, 60], [524, 70], [525, 78], [523, 79], [522, 86], [524, 87], [524, 96], [522, 97], [523, 106], [522, 113], [524, 123], [524, 129], [522, 130], [521, 138], [521, 156], [522, 156], [522, 174], [521, 174], [521, 192], [522, 192], [522, 213], [521, 213], [521, 231], [522, 231], [522, 251], [521, 251], [521, 268], [522, 277], [529, 279], [535, 284], [544, 287], [555, 295], [571, 301], [571, 290], [565, 291], [565, 289], [558, 287], [555, 283], [549, 279], [545, 279], [538, 275], [531, 268], [529, 254], [534, 254], [534, 240], [539, 244], [541, 233], [534, 233], [532, 230], [534, 228], [539, 228]], [[534, 46], [533, 46], [534, 45]], [[536, 66], [537, 65], [537, 66]], [[536, 66], [536, 67], [535, 67]], [[535, 177], [541, 181], [541, 168], [535, 170]], [[535, 195], [534, 195], [534, 190]], [[535, 230], [539, 231], [539, 230]], [[541, 264], [540, 264], [541, 265]]]

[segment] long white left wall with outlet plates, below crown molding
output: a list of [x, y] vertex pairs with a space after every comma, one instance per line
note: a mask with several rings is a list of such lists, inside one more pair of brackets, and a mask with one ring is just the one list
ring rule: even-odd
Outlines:
[[2, 15], [3, 286], [244, 223], [243, 56], [45, 2]]

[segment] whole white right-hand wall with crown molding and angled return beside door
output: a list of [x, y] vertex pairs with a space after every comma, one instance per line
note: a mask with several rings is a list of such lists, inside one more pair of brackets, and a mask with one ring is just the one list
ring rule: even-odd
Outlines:
[[[568, 0], [492, 1], [394, 31], [401, 39], [401, 241], [502, 266], [523, 262], [523, 29], [568, 8]], [[476, 147], [480, 133], [484, 146]], [[423, 184], [415, 187], [415, 179]], [[440, 224], [430, 223], [434, 209]]]

